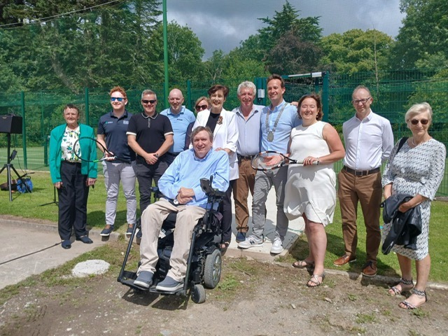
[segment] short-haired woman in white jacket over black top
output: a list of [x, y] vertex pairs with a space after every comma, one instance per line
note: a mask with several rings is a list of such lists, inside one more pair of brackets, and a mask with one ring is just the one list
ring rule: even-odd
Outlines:
[[193, 130], [197, 126], [208, 126], [213, 132], [213, 148], [215, 151], [225, 151], [229, 155], [230, 161], [230, 186], [225, 193], [223, 200], [223, 221], [221, 228], [221, 249], [225, 250], [232, 238], [232, 186], [233, 182], [239, 178], [237, 141], [238, 127], [235, 113], [226, 111], [223, 108], [225, 99], [229, 94], [229, 89], [225, 85], [213, 85], [209, 88], [211, 108], [197, 114]]

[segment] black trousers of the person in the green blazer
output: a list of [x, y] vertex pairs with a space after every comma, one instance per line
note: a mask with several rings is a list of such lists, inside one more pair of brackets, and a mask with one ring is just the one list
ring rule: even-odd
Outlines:
[[81, 174], [81, 164], [61, 162], [62, 188], [57, 190], [59, 197], [59, 218], [57, 228], [59, 237], [68, 240], [71, 228], [75, 229], [76, 237], [87, 235], [87, 197], [89, 188], [86, 185], [87, 176]]

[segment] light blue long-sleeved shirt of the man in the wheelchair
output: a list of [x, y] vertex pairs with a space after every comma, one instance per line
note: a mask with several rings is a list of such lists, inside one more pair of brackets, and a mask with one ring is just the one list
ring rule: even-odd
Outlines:
[[192, 188], [195, 197], [186, 205], [205, 208], [207, 195], [202, 191], [200, 179], [210, 179], [210, 176], [213, 176], [213, 188], [224, 192], [229, 188], [229, 155], [225, 151], [214, 151], [212, 148], [205, 158], [199, 159], [193, 148], [190, 148], [177, 155], [160, 178], [158, 187], [160, 192], [171, 200], [177, 197], [181, 187]]

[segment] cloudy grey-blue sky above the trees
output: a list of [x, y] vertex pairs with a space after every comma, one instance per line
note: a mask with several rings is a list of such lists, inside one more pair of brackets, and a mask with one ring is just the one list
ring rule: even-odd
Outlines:
[[[204, 59], [214, 50], [239, 46], [265, 27], [258, 18], [272, 18], [285, 0], [167, 0], [168, 22], [188, 25], [202, 41]], [[349, 29], [378, 29], [395, 37], [404, 15], [400, 0], [290, 0], [300, 18], [320, 16], [323, 35]]]

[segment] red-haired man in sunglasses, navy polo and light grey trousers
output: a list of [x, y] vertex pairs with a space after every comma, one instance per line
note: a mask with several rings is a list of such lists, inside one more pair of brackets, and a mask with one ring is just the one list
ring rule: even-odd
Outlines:
[[111, 96], [112, 111], [99, 118], [97, 140], [120, 160], [103, 161], [104, 183], [107, 190], [106, 227], [100, 235], [109, 236], [113, 231], [120, 181], [127, 205], [126, 235], [130, 235], [137, 219], [135, 153], [127, 145], [126, 135], [127, 125], [132, 114], [125, 109], [127, 95], [123, 87], [113, 87], [109, 95]]

